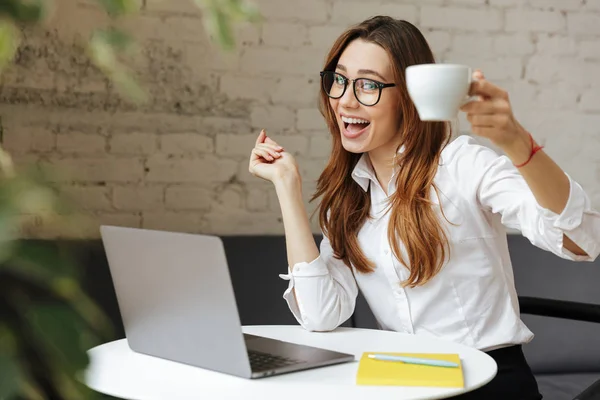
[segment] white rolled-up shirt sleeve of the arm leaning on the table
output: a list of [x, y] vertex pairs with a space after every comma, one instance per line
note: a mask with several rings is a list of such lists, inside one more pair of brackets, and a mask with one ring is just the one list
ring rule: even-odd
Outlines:
[[358, 295], [356, 280], [352, 270], [333, 256], [326, 237], [319, 257], [295, 264], [280, 277], [289, 281], [283, 298], [305, 329], [330, 331], [352, 316]]

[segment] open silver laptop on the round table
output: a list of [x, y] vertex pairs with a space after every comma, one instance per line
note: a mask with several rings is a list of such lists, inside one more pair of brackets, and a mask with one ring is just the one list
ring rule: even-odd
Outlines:
[[244, 334], [219, 237], [100, 227], [133, 351], [244, 378], [354, 356]]

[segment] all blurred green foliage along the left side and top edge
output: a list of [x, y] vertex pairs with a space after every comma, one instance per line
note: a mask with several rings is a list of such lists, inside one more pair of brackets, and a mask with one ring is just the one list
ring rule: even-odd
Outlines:
[[[96, 0], [113, 20], [137, 13], [141, 1]], [[210, 37], [224, 50], [235, 46], [236, 22], [259, 20], [245, 0], [187, 1], [201, 8]], [[50, 0], [0, 0], [0, 74], [18, 51], [21, 29], [42, 24], [51, 7]], [[139, 102], [146, 94], [120, 61], [134, 44], [108, 26], [92, 35], [88, 54], [126, 98]], [[0, 400], [94, 397], [82, 383], [86, 351], [110, 332], [105, 315], [83, 292], [81, 268], [70, 254], [21, 238], [24, 216], [69, 218], [69, 207], [44, 172], [17, 173], [0, 147]]]

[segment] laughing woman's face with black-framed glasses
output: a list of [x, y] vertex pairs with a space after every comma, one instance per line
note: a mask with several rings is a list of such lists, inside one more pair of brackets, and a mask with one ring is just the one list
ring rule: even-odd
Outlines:
[[[387, 52], [379, 45], [362, 39], [348, 44], [340, 56], [336, 72], [348, 79], [367, 78], [381, 83], [394, 83], [392, 63]], [[372, 86], [364, 89], [364, 96], [368, 98], [373, 92]], [[381, 89], [379, 102], [365, 106], [357, 100], [352, 82], [349, 81], [341, 98], [329, 99], [340, 127], [344, 149], [351, 153], [373, 150], [384, 150], [384, 153], [391, 154], [395, 152], [399, 145], [400, 128], [397, 90], [396, 87]], [[360, 92], [357, 84], [357, 93]]]

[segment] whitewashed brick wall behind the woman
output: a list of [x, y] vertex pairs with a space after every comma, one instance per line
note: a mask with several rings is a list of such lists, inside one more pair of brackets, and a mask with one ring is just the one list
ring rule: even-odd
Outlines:
[[[124, 22], [152, 95], [139, 107], [73, 46], [105, 22], [97, 10], [88, 0], [57, 4], [50, 35], [29, 35], [2, 77], [2, 140], [19, 163], [53, 168], [92, 218], [84, 236], [100, 223], [282, 233], [273, 188], [248, 173], [250, 149], [266, 128], [297, 156], [308, 200], [331, 146], [318, 71], [333, 40], [374, 14], [415, 23], [438, 61], [482, 68], [506, 88], [517, 117], [600, 207], [599, 0], [257, 0], [264, 23], [238, 27], [239, 46], [226, 54], [193, 0], [146, 0]], [[459, 127], [468, 133], [462, 115]], [[39, 221], [26, 232], [70, 235]]]

